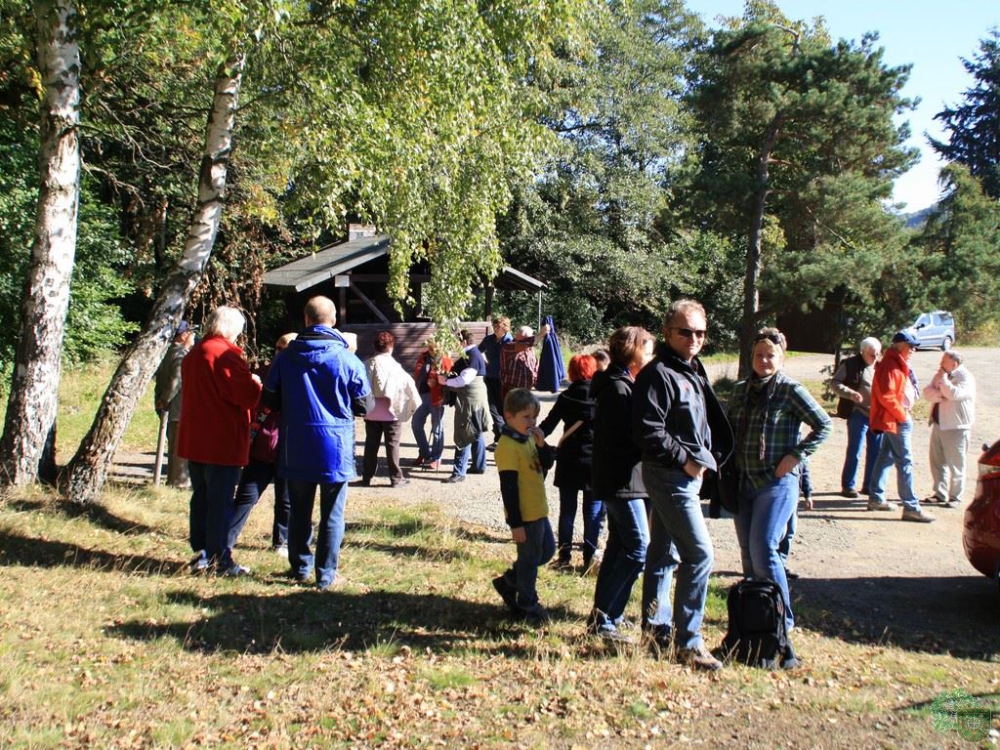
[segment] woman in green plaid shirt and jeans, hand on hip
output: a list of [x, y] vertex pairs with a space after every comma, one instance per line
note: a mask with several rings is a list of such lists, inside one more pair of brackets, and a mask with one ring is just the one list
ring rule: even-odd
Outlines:
[[[733, 389], [729, 421], [736, 432], [740, 474], [736, 536], [743, 573], [781, 587], [788, 630], [794, 624], [778, 544], [799, 499], [800, 464], [830, 436], [830, 417], [799, 383], [781, 372], [787, 349], [777, 328], [754, 337], [753, 373]], [[802, 423], [811, 429], [800, 437]], [[799, 664], [789, 645], [782, 666]]]

